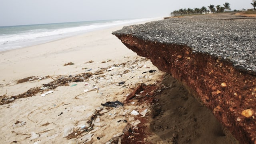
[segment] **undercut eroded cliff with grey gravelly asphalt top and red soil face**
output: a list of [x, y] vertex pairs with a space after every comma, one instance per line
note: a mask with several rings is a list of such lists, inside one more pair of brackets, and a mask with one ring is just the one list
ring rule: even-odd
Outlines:
[[254, 144], [255, 21], [208, 14], [127, 26], [113, 34], [182, 82], [241, 144]]

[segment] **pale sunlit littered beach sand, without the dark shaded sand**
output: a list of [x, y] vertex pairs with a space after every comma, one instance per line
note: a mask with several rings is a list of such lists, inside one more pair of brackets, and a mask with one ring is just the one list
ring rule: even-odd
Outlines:
[[[130, 114], [142, 108], [136, 103], [118, 108], [101, 104], [123, 102], [131, 88], [139, 83], [154, 84], [164, 73], [111, 34], [120, 28], [1, 52], [0, 143], [106, 143], [122, 134], [127, 121], [138, 122]], [[68, 62], [74, 64], [64, 66]], [[43, 87], [54, 80], [83, 73], [92, 75], [83, 77], [82, 82], [68, 82], [55, 89]], [[18, 83], [23, 78], [28, 79]], [[15, 97], [38, 87], [45, 90], [27, 98]], [[52, 93], [41, 96], [49, 91]], [[87, 122], [96, 112], [102, 114], [93, 122], [93, 130], [67, 138], [73, 131], [89, 127]]]

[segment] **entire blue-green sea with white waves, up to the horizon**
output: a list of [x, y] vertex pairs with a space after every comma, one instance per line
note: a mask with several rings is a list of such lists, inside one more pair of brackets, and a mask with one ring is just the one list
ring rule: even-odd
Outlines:
[[153, 18], [131, 20], [98, 20], [54, 24], [33, 24], [23, 26], [0, 26], [0, 51], [32, 46], [93, 30], [109, 28], [122, 24], [133, 24], [152, 19]]

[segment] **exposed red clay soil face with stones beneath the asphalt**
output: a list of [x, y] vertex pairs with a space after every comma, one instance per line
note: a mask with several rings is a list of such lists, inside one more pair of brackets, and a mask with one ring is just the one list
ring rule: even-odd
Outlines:
[[256, 143], [256, 76], [237, 70], [226, 60], [192, 53], [187, 46], [148, 42], [130, 35], [118, 38], [182, 82], [241, 144]]

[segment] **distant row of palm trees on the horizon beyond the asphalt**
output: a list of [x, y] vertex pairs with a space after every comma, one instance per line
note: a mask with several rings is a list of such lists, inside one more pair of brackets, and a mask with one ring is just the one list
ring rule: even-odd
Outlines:
[[184, 9], [179, 9], [179, 10], [174, 10], [173, 12], [171, 12], [172, 16], [180, 16], [180, 15], [186, 15], [186, 14], [203, 14], [203, 13], [219, 13], [219, 12], [224, 12], [227, 10], [230, 10], [230, 4], [228, 2], [225, 2], [225, 4], [223, 4], [223, 6], [217, 5], [214, 6], [212, 4], [210, 4], [210, 6], [208, 6], [209, 9], [207, 9], [206, 7], [202, 6], [202, 8], [184, 8]]

